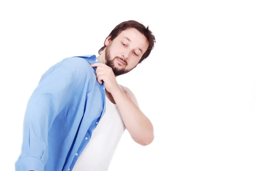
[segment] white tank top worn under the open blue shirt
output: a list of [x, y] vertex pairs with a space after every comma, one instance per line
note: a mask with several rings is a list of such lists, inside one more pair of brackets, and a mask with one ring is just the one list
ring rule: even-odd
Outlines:
[[106, 96], [106, 111], [72, 171], [108, 171], [125, 125], [116, 104]]

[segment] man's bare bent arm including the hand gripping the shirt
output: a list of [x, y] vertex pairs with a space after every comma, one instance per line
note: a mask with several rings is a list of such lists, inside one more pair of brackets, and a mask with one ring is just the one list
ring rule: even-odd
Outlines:
[[154, 139], [153, 125], [139, 109], [137, 100], [131, 90], [127, 88], [130, 99], [116, 82], [111, 67], [102, 63], [94, 63], [91, 66], [97, 67], [95, 72], [97, 80], [100, 84], [103, 81], [105, 82], [105, 88], [113, 96], [125, 127], [134, 141], [140, 145], [150, 144]]

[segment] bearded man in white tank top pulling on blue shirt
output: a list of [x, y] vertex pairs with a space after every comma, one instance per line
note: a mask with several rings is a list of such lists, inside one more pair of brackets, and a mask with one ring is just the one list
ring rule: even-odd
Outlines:
[[117, 25], [99, 56], [65, 58], [50, 67], [30, 97], [16, 171], [107, 171], [125, 129], [140, 145], [153, 126], [116, 77], [154, 48], [152, 32], [134, 20]]

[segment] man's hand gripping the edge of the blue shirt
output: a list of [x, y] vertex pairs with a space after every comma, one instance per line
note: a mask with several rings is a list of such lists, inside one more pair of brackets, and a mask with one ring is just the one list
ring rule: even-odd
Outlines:
[[105, 89], [109, 93], [113, 93], [114, 91], [120, 89], [118, 83], [116, 82], [116, 77], [111, 67], [103, 63], [94, 63], [91, 64], [92, 67], [97, 67], [96, 69], [96, 76], [99, 84], [102, 84], [104, 81]]

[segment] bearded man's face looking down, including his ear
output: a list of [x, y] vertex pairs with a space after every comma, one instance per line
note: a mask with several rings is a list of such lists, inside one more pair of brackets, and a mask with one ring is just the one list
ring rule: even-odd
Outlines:
[[116, 76], [133, 70], [148, 49], [148, 41], [137, 29], [122, 31], [113, 41], [105, 41], [105, 64]]

